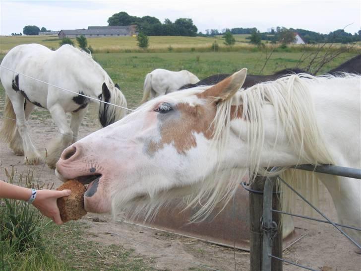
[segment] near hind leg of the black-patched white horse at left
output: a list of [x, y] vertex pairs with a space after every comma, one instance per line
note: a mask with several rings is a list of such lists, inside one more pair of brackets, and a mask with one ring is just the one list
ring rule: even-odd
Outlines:
[[[29, 118], [29, 115], [34, 107], [30, 106], [27, 113], [25, 113], [24, 102], [25, 98], [20, 95], [13, 96], [11, 99], [11, 103], [16, 114], [16, 132], [10, 142], [10, 147], [11, 145], [16, 146], [19, 143], [21, 137], [23, 152], [25, 155], [25, 163], [36, 165], [41, 162], [42, 158], [31, 141], [27, 128], [27, 119]], [[25, 114], [27, 114], [27, 116]], [[19, 151], [19, 149], [17, 150]]]

